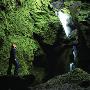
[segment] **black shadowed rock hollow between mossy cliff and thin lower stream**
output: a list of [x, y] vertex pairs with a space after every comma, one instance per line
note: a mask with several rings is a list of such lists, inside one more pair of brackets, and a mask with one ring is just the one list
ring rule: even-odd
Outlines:
[[[68, 54], [71, 46], [65, 44], [63, 45], [62, 41], [59, 40], [59, 35], [60, 33], [58, 31], [55, 42], [52, 45], [50, 45], [44, 43], [42, 36], [33, 33], [34, 39], [38, 41], [40, 47], [43, 49], [43, 51], [46, 54], [46, 62], [44, 64], [47, 73], [46, 75], [47, 80], [55, 75], [68, 72], [69, 61], [67, 59], [68, 55], [66, 54]], [[38, 59], [38, 57], [36, 58]], [[40, 61], [40, 57], [38, 61]]]

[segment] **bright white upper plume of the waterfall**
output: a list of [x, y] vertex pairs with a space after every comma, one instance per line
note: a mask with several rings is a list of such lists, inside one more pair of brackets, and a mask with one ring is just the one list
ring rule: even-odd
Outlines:
[[69, 24], [72, 23], [71, 16], [69, 14], [63, 13], [61, 10], [56, 11], [55, 13], [61, 21], [66, 36], [69, 37], [72, 31], [69, 26]]

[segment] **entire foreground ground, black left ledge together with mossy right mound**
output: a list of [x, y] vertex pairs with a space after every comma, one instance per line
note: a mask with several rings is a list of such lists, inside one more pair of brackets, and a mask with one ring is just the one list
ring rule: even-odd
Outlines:
[[77, 68], [37, 85], [33, 75], [0, 76], [0, 90], [90, 90], [90, 74]]

